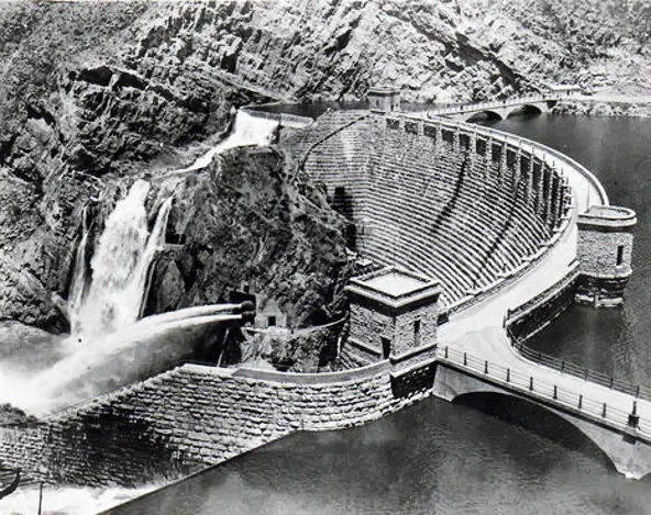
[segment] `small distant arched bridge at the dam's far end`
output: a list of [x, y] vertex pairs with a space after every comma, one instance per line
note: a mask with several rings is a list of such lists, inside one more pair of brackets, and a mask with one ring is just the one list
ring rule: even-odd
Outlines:
[[[565, 96], [566, 97], [566, 96]], [[559, 94], [518, 97], [493, 102], [443, 105], [428, 111], [428, 116], [445, 116], [467, 122], [479, 117], [505, 120], [515, 113], [547, 113], [561, 99]]]

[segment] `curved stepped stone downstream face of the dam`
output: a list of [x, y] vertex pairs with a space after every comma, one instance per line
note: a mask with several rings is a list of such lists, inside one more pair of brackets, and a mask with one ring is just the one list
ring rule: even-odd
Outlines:
[[441, 281], [449, 306], [537, 257], [571, 208], [544, 155], [500, 133], [339, 112], [306, 132], [295, 149], [354, 224], [354, 248]]

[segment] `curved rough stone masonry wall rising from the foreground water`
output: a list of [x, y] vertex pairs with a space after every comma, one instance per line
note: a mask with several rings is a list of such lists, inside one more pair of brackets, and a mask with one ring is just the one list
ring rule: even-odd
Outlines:
[[49, 481], [131, 485], [177, 477], [296, 430], [363, 424], [428, 394], [395, 396], [386, 362], [347, 374], [306, 384], [186, 365], [43, 426], [0, 428], [0, 462]]

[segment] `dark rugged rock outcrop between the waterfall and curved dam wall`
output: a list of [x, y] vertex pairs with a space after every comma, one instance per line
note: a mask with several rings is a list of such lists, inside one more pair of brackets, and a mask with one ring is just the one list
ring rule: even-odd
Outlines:
[[174, 244], [158, 260], [148, 311], [228, 301], [245, 282], [262, 303], [279, 300], [288, 327], [341, 316], [343, 219], [294, 171], [274, 148], [243, 148], [210, 170], [159, 180], [158, 199], [175, 197]]

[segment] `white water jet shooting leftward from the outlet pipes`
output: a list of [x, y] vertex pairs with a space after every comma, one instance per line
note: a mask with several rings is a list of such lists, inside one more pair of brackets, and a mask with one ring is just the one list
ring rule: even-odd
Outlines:
[[30, 378], [0, 363], [0, 402], [45, 415], [140, 381], [190, 354], [210, 325], [240, 320], [231, 313], [238, 306], [214, 304], [145, 317], [77, 347]]

